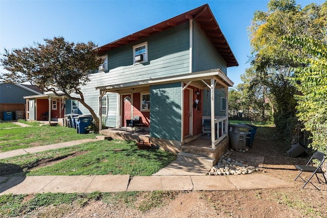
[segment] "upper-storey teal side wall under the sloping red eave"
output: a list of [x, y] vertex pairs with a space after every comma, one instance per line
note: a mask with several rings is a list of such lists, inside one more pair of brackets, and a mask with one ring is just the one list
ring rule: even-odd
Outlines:
[[225, 75], [227, 73], [225, 61], [195, 22], [193, 23], [192, 57], [193, 72], [219, 68]]

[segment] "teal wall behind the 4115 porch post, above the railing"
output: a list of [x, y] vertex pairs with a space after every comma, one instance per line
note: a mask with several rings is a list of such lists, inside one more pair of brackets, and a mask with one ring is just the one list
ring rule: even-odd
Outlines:
[[[225, 89], [215, 89], [215, 116], [225, 116], [226, 111], [221, 111], [221, 97], [226, 98]], [[226, 104], [227, 99], [226, 99]], [[210, 92], [203, 93], [203, 116], [211, 115]]]

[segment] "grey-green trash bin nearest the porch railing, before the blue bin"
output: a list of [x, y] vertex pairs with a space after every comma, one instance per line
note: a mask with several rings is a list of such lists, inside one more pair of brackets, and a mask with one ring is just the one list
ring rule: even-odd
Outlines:
[[250, 127], [240, 124], [229, 124], [229, 144], [232, 149], [245, 150], [246, 137]]

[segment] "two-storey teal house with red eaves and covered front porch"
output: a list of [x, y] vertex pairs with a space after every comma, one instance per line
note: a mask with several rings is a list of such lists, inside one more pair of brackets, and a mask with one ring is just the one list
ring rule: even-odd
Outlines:
[[[179, 152], [210, 119], [212, 148], [228, 147], [227, 67], [238, 66], [208, 5], [99, 47], [103, 64], [82, 87], [105, 126], [140, 116], [151, 142]], [[65, 113], [89, 111], [66, 100]], [[227, 142], [226, 142], [227, 141]]]

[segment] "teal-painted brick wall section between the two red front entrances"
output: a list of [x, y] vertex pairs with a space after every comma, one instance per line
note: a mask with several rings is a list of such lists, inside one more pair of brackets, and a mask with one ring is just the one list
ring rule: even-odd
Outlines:
[[150, 136], [181, 139], [181, 83], [150, 87]]

